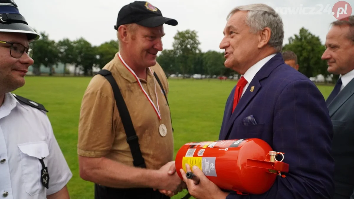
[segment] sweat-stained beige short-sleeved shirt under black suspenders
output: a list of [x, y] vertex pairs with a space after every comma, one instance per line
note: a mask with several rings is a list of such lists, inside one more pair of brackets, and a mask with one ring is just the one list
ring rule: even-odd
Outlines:
[[[169, 84], [161, 66], [156, 63], [150, 67], [163, 85], [166, 95]], [[112, 72], [116, 80], [130, 117], [139, 146], [148, 169], [159, 169], [173, 160], [173, 135], [170, 110], [161, 87], [148, 70], [147, 79], [140, 79], [145, 91], [156, 106], [156, 92], [161, 113], [161, 121], [145, 96], [138, 81], [123, 65], [116, 53], [115, 57], [103, 69]], [[156, 106], [157, 107], [157, 106]], [[167, 135], [159, 133], [160, 124], [167, 127]], [[86, 157], [106, 157], [133, 166], [133, 158], [111, 85], [102, 75], [93, 76], [82, 98], [78, 154]]]

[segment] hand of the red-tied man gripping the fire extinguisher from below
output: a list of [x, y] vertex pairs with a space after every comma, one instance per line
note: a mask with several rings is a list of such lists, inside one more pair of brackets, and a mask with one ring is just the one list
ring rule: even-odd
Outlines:
[[[188, 164], [186, 166], [186, 171], [191, 171]], [[187, 184], [188, 192], [194, 198], [202, 199], [225, 199], [228, 193], [225, 193], [219, 189], [213, 182], [211, 182], [204, 173], [197, 167], [193, 167], [193, 174], [199, 177], [199, 184], [194, 184], [193, 180], [188, 179], [185, 176], [183, 169], [180, 169], [180, 172], [183, 177], [183, 181]]]

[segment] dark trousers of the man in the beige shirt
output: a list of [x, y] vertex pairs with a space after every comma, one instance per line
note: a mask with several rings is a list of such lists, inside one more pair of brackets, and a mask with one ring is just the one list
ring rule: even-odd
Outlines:
[[95, 199], [170, 199], [151, 188], [116, 189], [95, 184]]

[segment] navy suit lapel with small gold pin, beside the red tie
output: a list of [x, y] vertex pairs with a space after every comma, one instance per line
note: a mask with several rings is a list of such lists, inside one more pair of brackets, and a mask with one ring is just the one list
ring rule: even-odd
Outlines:
[[[270, 73], [282, 63], [284, 63], [284, 59], [282, 58], [281, 53], [277, 53], [272, 59], [270, 59], [267, 63], [265, 63], [264, 66], [258, 71], [255, 77], [252, 79], [250, 85], [247, 88], [244, 88], [247, 90], [245, 91], [244, 95], [241, 97], [239, 103], [237, 104], [234, 113], [231, 115], [231, 118], [229, 119], [227, 126], [224, 129], [222, 139], [226, 138], [236, 118], [242, 113], [242, 111], [246, 108], [247, 104], [250, 103], [252, 98], [255, 97], [258, 91], [261, 89], [260, 81], [264, 78], [267, 78], [270, 75]], [[253, 92], [251, 92], [252, 86], [254, 86]], [[232, 104], [233, 102], [231, 101], [229, 104], [230, 106], [229, 111], [232, 110]]]

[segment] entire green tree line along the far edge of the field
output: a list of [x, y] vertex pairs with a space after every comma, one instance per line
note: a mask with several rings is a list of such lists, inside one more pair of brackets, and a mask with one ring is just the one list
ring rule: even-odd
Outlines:
[[[119, 50], [117, 40], [93, 46], [84, 38], [71, 41], [64, 38], [58, 42], [49, 39], [48, 34], [41, 32], [41, 38], [30, 45], [34, 49], [34, 74], [39, 75], [41, 65], [50, 68], [58, 62], [73, 64], [75, 72], [78, 68], [84, 75], [93, 75], [93, 68], [102, 68]], [[195, 30], [177, 31], [173, 37], [172, 49], [163, 50], [157, 58], [166, 74], [204, 74], [233, 75], [235, 71], [224, 67], [224, 53], [218, 51], [202, 52], [198, 34]], [[327, 76], [326, 61], [321, 60], [325, 46], [318, 36], [301, 28], [298, 34], [289, 39], [283, 51], [291, 50], [298, 56], [299, 72], [307, 77], [322, 74]], [[65, 68], [64, 68], [65, 71]], [[65, 75], [65, 73], [64, 73]], [[74, 74], [76, 75], [76, 74]]]

